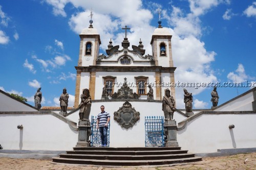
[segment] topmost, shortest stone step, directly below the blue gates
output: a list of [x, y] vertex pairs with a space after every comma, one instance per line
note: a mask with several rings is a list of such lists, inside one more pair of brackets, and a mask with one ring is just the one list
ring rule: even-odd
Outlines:
[[126, 147], [126, 148], [113, 148], [113, 147], [74, 147], [74, 151], [161, 151], [161, 150], [180, 150], [181, 147]]

